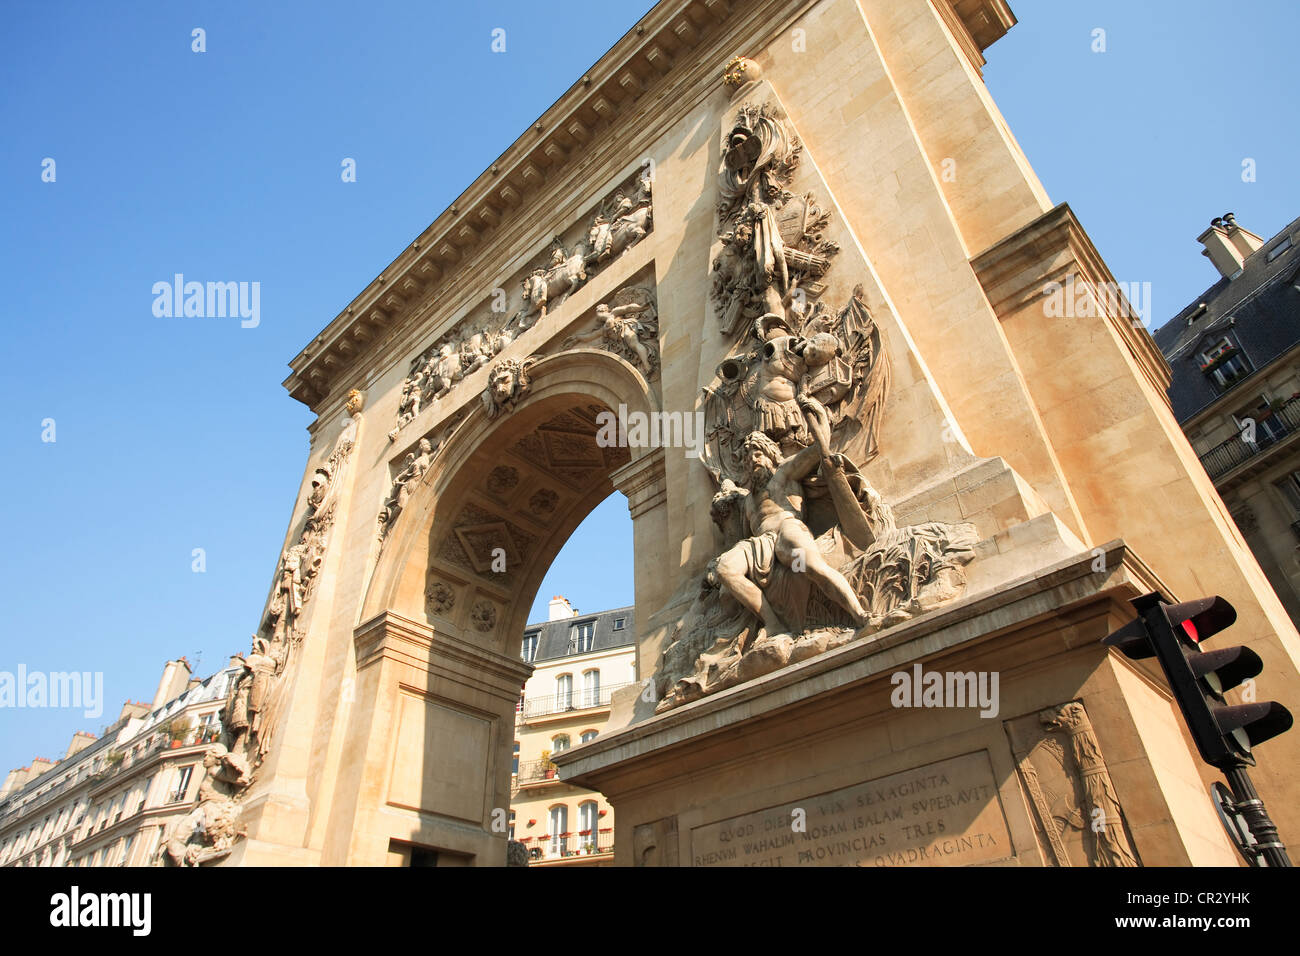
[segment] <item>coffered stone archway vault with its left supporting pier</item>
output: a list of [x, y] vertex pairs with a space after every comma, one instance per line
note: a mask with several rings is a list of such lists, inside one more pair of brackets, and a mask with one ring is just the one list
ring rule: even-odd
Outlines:
[[[616, 489], [628, 494], [636, 541], [663, 536], [663, 451], [597, 440], [598, 415], [620, 406], [649, 414], [656, 401], [623, 359], [573, 350], [538, 359], [511, 410], [476, 406], [438, 449], [361, 605], [350, 758], [322, 862], [382, 864], [415, 847], [504, 864], [498, 823], [537, 588]], [[662, 580], [641, 572], [641, 554], [638, 604]]]

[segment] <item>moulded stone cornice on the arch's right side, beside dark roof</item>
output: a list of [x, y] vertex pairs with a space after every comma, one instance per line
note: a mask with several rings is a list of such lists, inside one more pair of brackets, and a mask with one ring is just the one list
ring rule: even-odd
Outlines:
[[[1061, 203], [1017, 230], [991, 248], [971, 259], [989, 303], [998, 315], [1026, 308], [1034, 299], [1043, 299], [1044, 285], [1065, 282], [1078, 272], [1093, 289], [1118, 289], [1115, 277], [1083, 230], [1074, 211]], [[1122, 299], [1122, 311], [1131, 311]], [[1123, 315], [1112, 315], [1104, 303], [1096, 307], [1128, 349], [1138, 368], [1169, 406], [1169, 363], [1150, 333]]]

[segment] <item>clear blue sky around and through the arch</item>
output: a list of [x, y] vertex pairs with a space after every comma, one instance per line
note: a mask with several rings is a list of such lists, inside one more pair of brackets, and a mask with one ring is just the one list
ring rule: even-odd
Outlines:
[[[208, 674], [247, 649], [307, 453], [287, 360], [649, 7], [5, 5], [0, 671], [103, 671], [104, 713], [0, 709], [0, 773], [148, 700], [165, 659]], [[1195, 242], [1213, 216], [1269, 237], [1300, 211], [1300, 7], [1080, 7], [1013, 0], [985, 79], [1052, 199], [1117, 278], [1152, 284], [1158, 325], [1216, 278]], [[257, 328], [155, 316], [178, 272], [260, 282]], [[615, 496], [532, 618], [552, 593], [630, 604], [630, 548]]]

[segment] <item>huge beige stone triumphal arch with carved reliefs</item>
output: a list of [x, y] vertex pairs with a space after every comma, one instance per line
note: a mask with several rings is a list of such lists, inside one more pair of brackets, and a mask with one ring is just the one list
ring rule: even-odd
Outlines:
[[[1098, 641], [1219, 593], [1294, 702], [1296, 632], [984, 87], [1014, 22], [664, 0], [303, 349], [190, 862], [503, 865], [525, 617], [612, 492], [642, 683], [555, 760], [618, 864], [1234, 862]], [[1283, 836], [1297, 743], [1257, 774]]]

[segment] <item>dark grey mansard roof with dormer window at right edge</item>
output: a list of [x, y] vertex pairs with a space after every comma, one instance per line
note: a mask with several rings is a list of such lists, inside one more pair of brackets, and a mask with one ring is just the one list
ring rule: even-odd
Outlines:
[[[1269, 251], [1287, 235], [1291, 247], [1270, 263]], [[1201, 303], [1205, 311], [1196, 315]], [[1173, 372], [1169, 398], [1179, 423], [1219, 398], [1200, 369], [1201, 343], [1219, 334], [1228, 334], [1254, 369], [1226, 394], [1248, 393], [1254, 375], [1300, 343], [1300, 219], [1251, 254], [1242, 274], [1221, 278], [1156, 329], [1156, 345]]]

